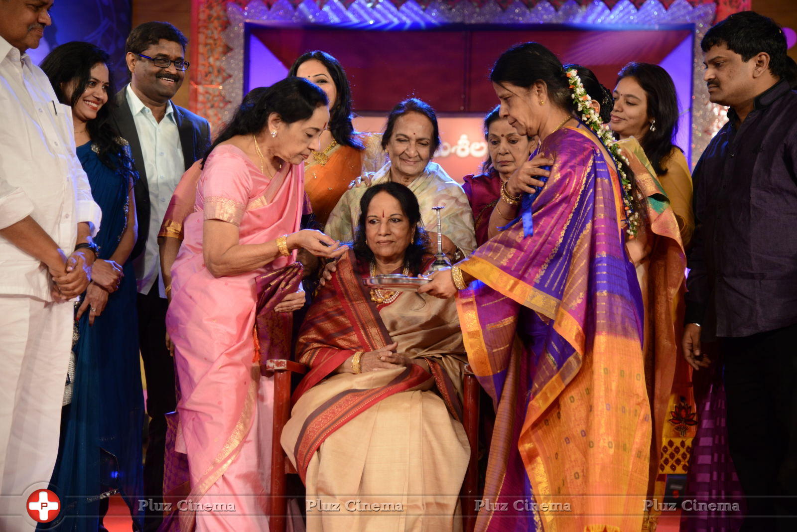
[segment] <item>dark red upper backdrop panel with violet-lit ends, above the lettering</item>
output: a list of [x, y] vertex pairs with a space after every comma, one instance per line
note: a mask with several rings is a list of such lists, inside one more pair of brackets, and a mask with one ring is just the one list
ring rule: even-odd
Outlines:
[[[414, 95], [440, 112], [481, 113], [496, 101], [487, 79], [493, 61], [509, 46], [539, 41], [564, 62], [592, 68], [607, 87], [629, 61], [658, 64], [691, 39], [689, 29], [443, 29], [373, 31], [308, 26], [247, 25], [245, 89], [281, 79], [308, 50], [321, 49], [344, 65], [360, 112], [387, 111]], [[683, 58], [691, 62], [691, 51]], [[278, 64], [282, 68], [278, 68]], [[691, 83], [685, 87], [691, 93]]]

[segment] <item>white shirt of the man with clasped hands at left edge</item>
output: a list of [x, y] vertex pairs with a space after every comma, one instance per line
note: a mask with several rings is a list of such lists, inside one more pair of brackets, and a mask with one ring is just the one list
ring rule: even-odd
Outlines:
[[[102, 213], [75, 153], [72, 108], [45, 73], [0, 37], [0, 228], [33, 217], [67, 254], [77, 224], [95, 235]], [[46, 266], [0, 237], [0, 295], [51, 301]]]

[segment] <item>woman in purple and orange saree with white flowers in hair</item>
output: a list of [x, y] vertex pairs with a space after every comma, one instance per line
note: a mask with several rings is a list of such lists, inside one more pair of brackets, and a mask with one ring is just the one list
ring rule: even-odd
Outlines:
[[476, 530], [641, 530], [652, 423], [625, 246], [633, 175], [575, 119], [544, 46], [509, 49], [491, 80], [501, 115], [540, 135], [550, 174], [524, 163], [501, 192], [514, 220], [419, 290], [460, 289], [469, 362], [496, 405]]

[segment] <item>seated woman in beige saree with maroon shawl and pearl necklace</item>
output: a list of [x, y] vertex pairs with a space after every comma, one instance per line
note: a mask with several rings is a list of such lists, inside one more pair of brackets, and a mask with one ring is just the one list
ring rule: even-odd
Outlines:
[[414, 194], [371, 186], [351, 252], [308, 311], [282, 447], [307, 488], [308, 530], [461, 530], [469, 460], [461, 424], [465, 347], [453, 299], [369, 289], [433, 257]]

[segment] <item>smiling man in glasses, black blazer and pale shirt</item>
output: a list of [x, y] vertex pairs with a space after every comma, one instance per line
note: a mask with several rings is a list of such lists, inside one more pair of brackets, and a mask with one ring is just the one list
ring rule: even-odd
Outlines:
[[130, 84], [116, 94], [117, 108], [112, 112], [120, 136], [130, 143], [140, 177], [135, 183], [139, 239], [132, 256], [136, 257], [139, 342], [151, 418], [144, 495], [153, 500], [147, 505], [144, 530], [159, 525], [160, 512], [153, 509], [159, 507], [163, 490], [165, 414], [176, 407], [174, 362], [165, 342], [167, 299], [158, 233], [180, 177], [210, 145], [207, 120], [171, 102], [189, 66], [186, 44], [183, 33], [167, 22], [145, 22], [134, 28], [125, 43]]

